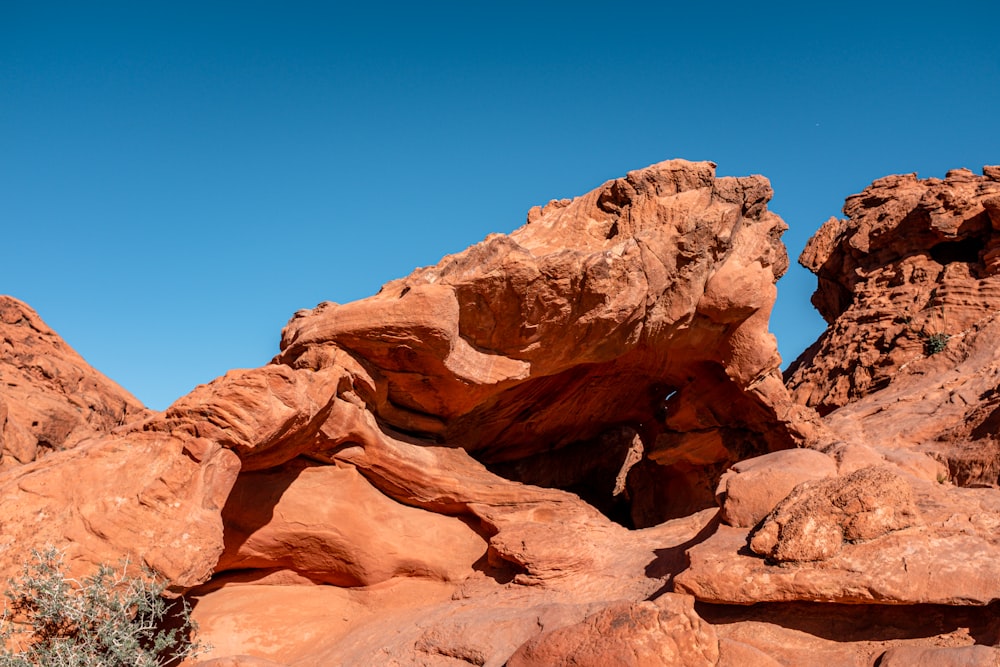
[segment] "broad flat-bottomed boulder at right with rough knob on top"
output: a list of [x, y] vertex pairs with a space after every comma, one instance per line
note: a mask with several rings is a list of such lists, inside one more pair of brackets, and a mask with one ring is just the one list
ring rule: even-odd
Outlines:
[[883, 461], [803, 482], [756, 529], [720, 526], [688, 549], [674, 588], [716, 604], [988, 605], [1000, 599], [998, 528], [994, 489]]

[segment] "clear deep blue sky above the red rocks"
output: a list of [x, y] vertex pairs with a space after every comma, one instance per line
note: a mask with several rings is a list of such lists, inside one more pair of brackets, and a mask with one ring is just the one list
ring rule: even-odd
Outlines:
[[[889, 173], [1000, 163], [1000, 3], [0, 0], [0, 292], [153, 408], [299, 308], [667, 158], [794, 258]], [[793, 270], [786, 362], [822, 321]]]

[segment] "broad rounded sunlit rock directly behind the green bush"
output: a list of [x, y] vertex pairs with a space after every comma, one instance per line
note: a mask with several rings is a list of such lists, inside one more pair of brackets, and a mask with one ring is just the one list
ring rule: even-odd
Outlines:
[[183, 590], [212, 575], [222, 554], [221, 511], [239, 459], [202, 439], [132, 433], [0, 475], [0, 571], [20, 573], [32, 549], [66, 553], [70, 572], [129, 557]]

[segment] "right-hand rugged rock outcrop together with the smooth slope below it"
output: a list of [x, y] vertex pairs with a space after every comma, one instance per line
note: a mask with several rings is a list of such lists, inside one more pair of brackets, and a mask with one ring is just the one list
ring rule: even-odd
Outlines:
[[961, 485], [1000, 479], [1000, 167], [879, 179], [802, 263], [830, 322], [789, 369], [843, 437], [932, 453]]

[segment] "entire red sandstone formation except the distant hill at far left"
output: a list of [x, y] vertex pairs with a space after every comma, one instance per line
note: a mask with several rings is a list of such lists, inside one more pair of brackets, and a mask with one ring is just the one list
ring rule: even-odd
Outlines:
[[791, 391], [764, 178], [675, 160], [536, 207], [18, 459], [0, 570], [132, 554], [217, 667], [992, 664], [985, 174], [883, 179], [824, 225], [831, 327]]

